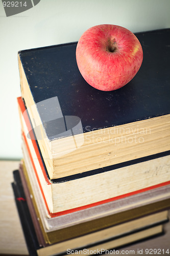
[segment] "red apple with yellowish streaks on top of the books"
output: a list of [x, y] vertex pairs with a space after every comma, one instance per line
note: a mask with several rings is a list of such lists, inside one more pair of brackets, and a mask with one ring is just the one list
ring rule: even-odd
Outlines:
[[86, 30], [76, 48], [80, 73], [90, 86], [113, 91], [127, 84], [138, 72], [143, 51], [128, 29], [103, 24]]

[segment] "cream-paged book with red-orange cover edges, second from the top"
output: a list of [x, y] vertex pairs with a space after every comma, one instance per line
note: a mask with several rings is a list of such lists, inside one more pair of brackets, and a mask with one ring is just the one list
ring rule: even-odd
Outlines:
[[36, 180], [50, 215], [63, 215], [137, 194], [143, 189], [150, 190], [155, 186], [170, 184], [169, 152], [109, 166], [108, 169], [101, 168], [97, 172], [91, 170], [90, 173], [72, 175], [65, 179], [49, 179], [36, 138], [29, 139], [26, 136], [31, 122], [28, 115], [23, 118], [25, 107], [21, 98], [18, 98], [18, 103], [26, 169], [31, 183]]

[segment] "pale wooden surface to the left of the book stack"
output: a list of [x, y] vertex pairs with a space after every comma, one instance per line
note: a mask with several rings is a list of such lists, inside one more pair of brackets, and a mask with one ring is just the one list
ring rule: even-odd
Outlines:
[[11, 182], [18, 161], [0, 161], [0, 253], [28, 254], [23, 237]]

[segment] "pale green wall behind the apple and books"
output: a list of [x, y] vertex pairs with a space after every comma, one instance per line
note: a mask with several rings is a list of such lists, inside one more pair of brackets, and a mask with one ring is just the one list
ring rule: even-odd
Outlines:
[[[0, 158], [22, 157], [17, 52], [78, 41], [98, 24], [120, 25], [132, 32], [170, 28], [170, 0], [41, 0], [11, 17], [0, 2]], [[161, 51], [161, 38], [155, 44]]]

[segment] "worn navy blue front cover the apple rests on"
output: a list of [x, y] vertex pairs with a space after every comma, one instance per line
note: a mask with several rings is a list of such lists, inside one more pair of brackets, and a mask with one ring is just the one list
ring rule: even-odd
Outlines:
[[19, 57], [35, 103], [57, 96], [63, 116], [78, 116], [101, 129], [170, 112], [170, 29], [137, 33], [143, 62], [122, 89], [103, 92], [89, 86], [76, 63], [77, 42], [20, 51]]

